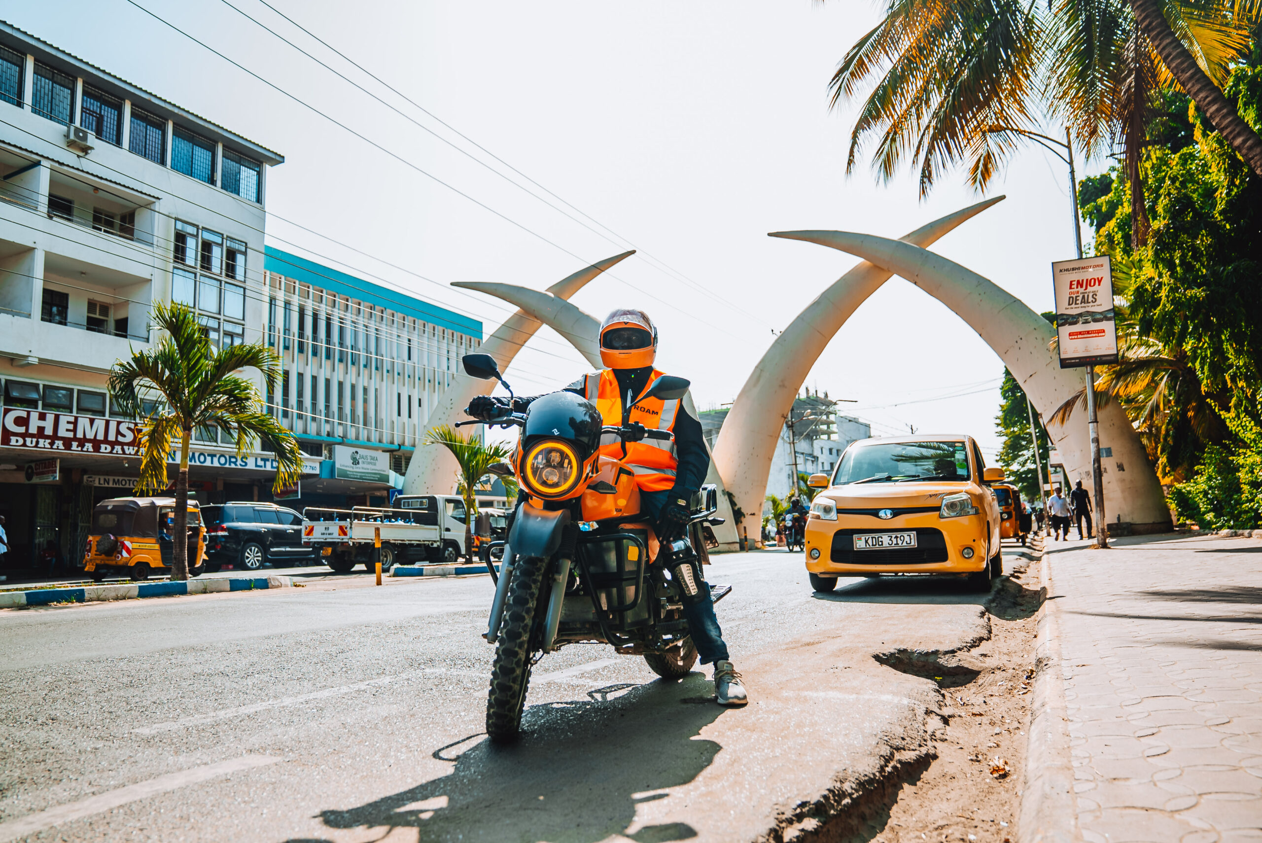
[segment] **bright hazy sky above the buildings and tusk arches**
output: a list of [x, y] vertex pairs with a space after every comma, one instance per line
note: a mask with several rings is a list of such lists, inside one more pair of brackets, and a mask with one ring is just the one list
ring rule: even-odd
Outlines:
[[[126, 0], [10, 1], [0, 10], [16, 27], [284, 154], [285, 163], [269, 174], [273, 245], [341, 261], [341, 269], [361, 278], [385, 279], [469, 313], [487, 334], [506, 307], [453, 290], [449, 281], [541, 289], [634, 244], [639, 255], [573, 300], [597, 318], [615, 307], [647, 310], [661, 333], [659, 367], [692, 379], [703, 409], [731, 401], [774, 332], [857, 262], [832, 249], [769, 239], [769, 231], [900, 237], [981, 198], [959, 172], [946, 174], [924, 202], [907, 169], [878, 184], [864, 162], [847, 178], [853, 112], [829, 110], [828, 80], [877, 20], [873, 4], [269, 0], [591, 215], [598, 223], [526, 183], [604, 232], [598, 236], [338, 80], [227, 1], [136, 0], [502, 217]], [[230, 1], [522, 183], [259, 0]], [[1049, 264], [1074, 256], [1064, 164], [1031, 146], [996, 182], [994, 193], [1008, 198], [934, 249], [1035, 310], [1051, 309]], [[529, 394], [555, 389], [586, 368], [545, 329], [507, 377]], [[969, 433], [993, 451], [1002, 372], [998, 357], [968, 326], [896, 276], [842, 328], [808, 385], [856, 399], [839, 409], [871, 422], [873, 434], [915, 425], [926, 433]]]

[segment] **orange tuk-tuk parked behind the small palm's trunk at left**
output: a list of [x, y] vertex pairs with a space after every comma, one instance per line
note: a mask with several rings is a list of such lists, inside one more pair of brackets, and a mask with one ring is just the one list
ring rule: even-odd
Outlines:
[[[92, 510], [83, 569], [96, 582], [126, 572], [131, 579], [167, 573], [174, 562], [174, 497], [114, 497]], [[206, 528], [197, 501], [188, 502], [188, 575], [206, 565]]]

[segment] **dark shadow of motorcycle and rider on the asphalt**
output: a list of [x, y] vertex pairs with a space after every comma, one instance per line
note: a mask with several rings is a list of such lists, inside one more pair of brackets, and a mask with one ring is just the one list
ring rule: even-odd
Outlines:
[[699, 736], [726, 709], [692, 704], [712, 694], [711, 681], [692, 673], [530, 705], [519, 742], [462, 738], [434, 751], [454, 765], [449, 774], [319, 818], [332, 829], [416, 828], [419, 840], [687, 840], [697, 829], [681, 822], [637, 825], [636, 810], [714, 761], [722, 747]]

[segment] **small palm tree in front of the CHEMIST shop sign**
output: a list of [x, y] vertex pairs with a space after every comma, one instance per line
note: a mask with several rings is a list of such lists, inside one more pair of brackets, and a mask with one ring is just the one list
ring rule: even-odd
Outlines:
[[156, 347], [131, 352], [110, 368], [110, 398], [120, 413], [140, 424], [140, 478], [136, 495], [167, 488], [167, 456], [179, 440], [175, 475], [175, 526], [172, 579], [188, 579], [188, 451], [197, 428], [218, 429], [236, 439], [237, 456], [261, 440], [276, 454], [274, 491], [297, 482], [303, 466], [294, 435], [264, 411], [255, 385], [235, 372], [254, 367], [269, 389], [280, 381], [280, 357], [249, 343], [216, 350], [182, 304], [159, 302], [153, 326], [167, 332]]

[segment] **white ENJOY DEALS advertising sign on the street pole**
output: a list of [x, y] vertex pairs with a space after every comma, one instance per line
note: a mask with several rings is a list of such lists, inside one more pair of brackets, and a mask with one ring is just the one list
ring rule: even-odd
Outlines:
[[1116, 363], [1117, 323], [1108, 256], [1054, 262], [1051, 279], [1056, 290], [1060, 367]]

